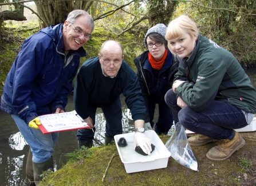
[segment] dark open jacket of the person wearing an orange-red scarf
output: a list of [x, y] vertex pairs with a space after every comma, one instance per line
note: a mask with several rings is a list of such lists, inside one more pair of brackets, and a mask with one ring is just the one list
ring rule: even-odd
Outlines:
[[167, 51], [166, 60], [164, 61], [163, 67], [159, 70], [157, 78], [153, 75], [153, 69], [148, 60], [149, 51], [145, 51], [133, 60], [137, 67], [136, 74], [139, 78], [145, 107], [147, 108], [145, 122], [149, 122], [148, 96], [156, 95], [164, 100], [164, 95], [172, 87], [174, 75], [178, 71], [179, 62], [175, 60], [168, 48]]

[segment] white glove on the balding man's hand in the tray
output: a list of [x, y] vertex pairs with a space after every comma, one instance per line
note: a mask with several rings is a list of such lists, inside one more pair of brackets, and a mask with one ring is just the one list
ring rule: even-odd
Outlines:
[[152, 151], [151, 141], [147, 138], [147, 136], [145, 134], [136, 132], [134, 134], [133, 143], [134, 143], [134, 149], [137, 146], [140, 146], [140, 148], [143, 150], [143, 152], [150, 155], [150, 152]]

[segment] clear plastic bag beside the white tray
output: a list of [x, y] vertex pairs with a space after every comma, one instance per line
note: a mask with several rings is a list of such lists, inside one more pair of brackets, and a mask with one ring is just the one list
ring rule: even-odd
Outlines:
[[166, 148], [171, 152], [172, 158], [179, 164], [198, 171], [198, 162], [188, 143], [185, 128], [179, 122], [175, 124], [175, 130], [166, 142]]

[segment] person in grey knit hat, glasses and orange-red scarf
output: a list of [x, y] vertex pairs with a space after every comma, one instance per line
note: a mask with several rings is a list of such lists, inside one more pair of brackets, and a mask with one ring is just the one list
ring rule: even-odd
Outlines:
[[179, 66], [167, 48], [165, 35], [166, 25], [160, 23], [151, 27], [144, 38], [148, 50], [133, 60], [147, 108], [145, 128], [152, 130], [155, 107], [158, 104], [159, 117], [155, 124], [155, 132], [158, 134], [167, 134], [174, 121], [164, 95], [172, 87], [174, 74]]

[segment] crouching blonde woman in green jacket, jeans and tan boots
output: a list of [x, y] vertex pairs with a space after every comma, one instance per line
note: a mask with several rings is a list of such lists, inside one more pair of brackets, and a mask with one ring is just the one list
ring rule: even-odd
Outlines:
[[190, 145], [217, 141], [206, 156], [221, 161], [245, 145], [234, 129], [250, 124], [256, 113], [256, 91], [238, 60], [215, 42], [199, 34], [185, 15], [167, 27], [168, 48], [179, 59], [172, 89], [165, 100], [175, 123], [197, 136]]

